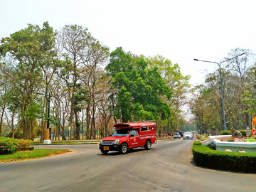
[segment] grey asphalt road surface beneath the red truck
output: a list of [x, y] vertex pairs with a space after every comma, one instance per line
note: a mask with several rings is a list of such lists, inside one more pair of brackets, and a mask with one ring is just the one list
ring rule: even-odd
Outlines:
[[255, 191], [255, 174], [195, 166], [192, 144], [169, 139], [124, 155], [102, 155], [97, 144], [35, 146], [75, 151], [0, 164], [0, 191]]

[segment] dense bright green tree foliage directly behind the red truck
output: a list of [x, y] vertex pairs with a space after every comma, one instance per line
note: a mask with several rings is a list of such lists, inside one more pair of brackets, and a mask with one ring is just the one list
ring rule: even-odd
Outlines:
[[[169, 99], [171, 90], [158, 68], [146, 68], [148, 63], [143, 56], [125, 53], [121, 47], [112, 51], [106, 70], [112, 76], [111, 98], [115, 99], [114, 115], [122, 122], [131, 119], [166, 119], [170, 108], [162, 97]], [[159, 115], [161, 114], [161, 116]]]

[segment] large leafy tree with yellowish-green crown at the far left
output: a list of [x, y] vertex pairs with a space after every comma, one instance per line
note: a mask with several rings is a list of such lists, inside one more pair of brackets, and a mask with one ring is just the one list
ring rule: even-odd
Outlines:
[[54, 55], [54, 36], [53, 29], [45, 22], [42, 29], [28, 24], [28, 28], [1, 39], [0, 54], [4, 58], [12, 59], [11, 63], [2, 60], [1, 73], [11, 81], [14, 90], [19, 92], [25, 139], [31, 139], [32, 136], [33, 120], [36, 116], [31, 112], [38, 111], [40, 107], [34, 92], [41, 87], [42, 65], [48, 65], [51, 62], [49, 59]]

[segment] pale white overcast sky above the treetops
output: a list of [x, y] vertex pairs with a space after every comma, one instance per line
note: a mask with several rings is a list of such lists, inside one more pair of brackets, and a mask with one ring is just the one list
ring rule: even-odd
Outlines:
[[55, 30], [77, 24], [110, 51], [162, 55], [191, 84], [203, 83], [234, 48], [256, 50], [255, 0], [0, 0], [0, 38], [48, 21]]

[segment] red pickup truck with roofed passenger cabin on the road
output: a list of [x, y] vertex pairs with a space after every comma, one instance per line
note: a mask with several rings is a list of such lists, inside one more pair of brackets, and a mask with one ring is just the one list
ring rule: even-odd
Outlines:
[[154, 122], [131, 122], [114, 124], [116, 131], [110, 137], [100, 140], [99, 149], [102, 154], [108, 151], [119, 151], [126, 154], [136, 147], [151, 149], [156, 142], [156, 124]]

